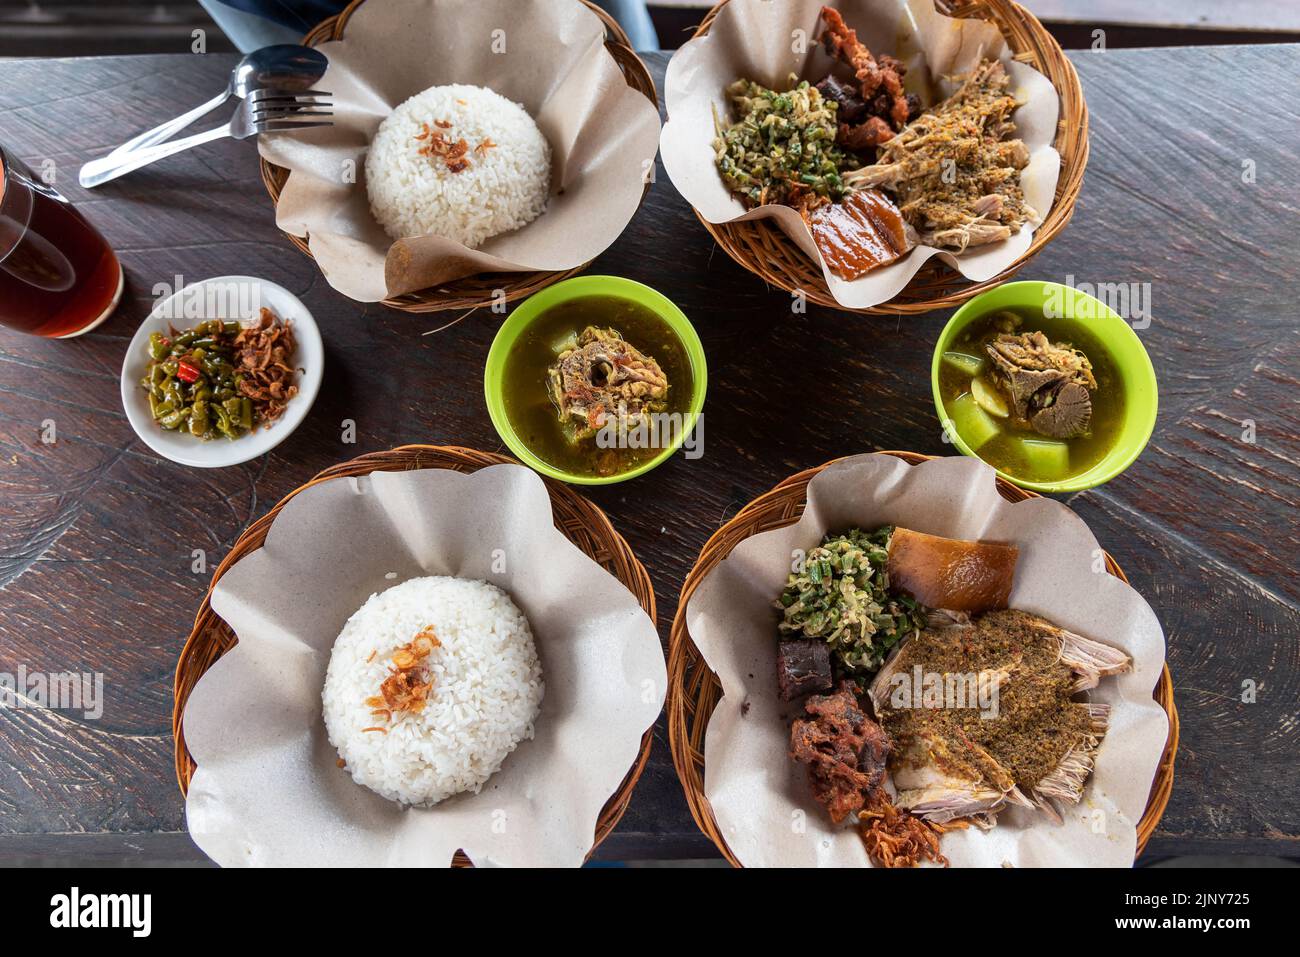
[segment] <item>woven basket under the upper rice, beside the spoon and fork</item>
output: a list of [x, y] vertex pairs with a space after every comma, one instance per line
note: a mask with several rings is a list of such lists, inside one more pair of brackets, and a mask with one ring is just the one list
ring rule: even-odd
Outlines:
[[[326, 43], [328, 40], [343, 39], [343, 30], [347, 27], [347, 21], [351, 20], [352, 14], [356, 13], [356, 9], [363, 3], [365, 3], [365, 0], [352, 0], [352, 3], [350, 3], [347, 8], [337, 16], [317, 23], [316, 27], [303, 38], [303, 43], [308, 47], [315, 47], [321, 43]], [[595, 4], [589, 3], [589, 0], [578, 0], [578, 3], [586, 5], [601, 18], [601, 22], [604, 23], [604, 48], [610, 51], [610, 56], [614, 57], [619, 69], [623, 70], [623, 78], [627, 81], [628, 86], [637, 92], [644, 94], [650, 103], [655, 104], [655, 109], [658, 109], [659, 95], [655, 91], [654, 79], [651, 79], [650, 70], [646, 69], [646, 65], [641, 62], [641, 57], [638, 57], [632, 49], [632, 40], [628, 39], [623, 27], [619, 26], [619, 22], [614, 17]], [[272, 204], [278, 205], [280, 194], [283, 191], [285, 183], [289, 181], [289, 170], [283, 166], [270, 164], [266, 160], [261, 160], [261, 181], [266, 186], [266, 192], [270, 194]], [[641, 194], [642, 200], [645, 200], [645, 194], [649, 190], [650, 185], [646, 183], [646, 189]], [[291, 233], [285, 233], [285, 235], [289, 238], [289, 242], [296, 246], [304, 255], [313, 259], [312, 252], [307, 246], [307, 239], [292, 235]], [[490, 306], [498, 302], [498, 290], [504, 291], [506, 302], [515, 302], [516, 299], [530, 296], [533, 293], [543, 290], [560, 280], [577, 276], [589, 265], [590, 263], [584, 263], [582, 265], [572, 269], [562, 269], [558, 272], [478, 273], [476, 276], [467, 276], [464, 278], [447, 282], [442, 286], [422, 289], [417, 293], [410, 293], [407, 295], [385, 299], [382, 302], [385, 306], [394, 309], [416, 313], [441, 312], [443, 309], [474, 309], [480, 306]]]

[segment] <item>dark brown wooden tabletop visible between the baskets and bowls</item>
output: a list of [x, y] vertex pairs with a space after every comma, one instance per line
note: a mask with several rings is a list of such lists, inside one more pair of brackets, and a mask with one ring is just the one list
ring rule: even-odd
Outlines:
[[[662, 79], [667, 57], [650, 57]], [[1300, 47], [1074, 55], [1092, 163], [1074, 221], [1022, 276], [1149, 283], [1161, 386], [1141, 459], [1069, 498], [1156, 609], [1183, 739], [1148, 849], [1300, 854]], [[114, 319], [70, 342], [0, 329], [0, 671], [99, 671], [99, 720], [0, 711], [0, 862], [198, 859], [172, 768], [172, 672], [208, 573], [317, 471], [404, 442], [499, 450], [481, 371], [499, 319], [413, 317], [335, 294], [277, 233], [255, 151], [225, 142], [92, 194], [78, 165], [225, 81], [229, 56], [0, 61], [0, 140], [52, 160], [127, 272]], [[1243, 177], [1253, 170], [1253, 177]], [[1247, 182], [1251, 181], [1251, 182]], [[875, 449], [949, 451], [928, 364], [945, 315], [862, 317], [767, 289], [719, 252], [660, 168], [592, 272], [651, 283], [703, 338], [706, 454], [595, 490], [654, 579], [667, 635], [708, 534], [786, 475]], [[268, 456], [222, 471], [160, 460], [118, 399], [155, 283], [255, 273], [299, 294], [325, 385]], [[356, 443], [341, 441], [344, 419]], [[52, 420], [57, 442], [42, 442]], [[1254, 688], [1253, 703], [1243, 689]], [[602, 857], [705, 857], [660, 726]]]

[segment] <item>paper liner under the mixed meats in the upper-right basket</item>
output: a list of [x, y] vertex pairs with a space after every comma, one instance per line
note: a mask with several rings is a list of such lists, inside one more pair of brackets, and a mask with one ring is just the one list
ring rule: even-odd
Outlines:
[[[906, 256], [852, 282], [835, 276], [797, 212], [783, 205], [762, 205], [746, 212], [714, 164], [714, 113], [733, 120], [727, 86], [754, 79], [784, 90], [788, 77], [815, 81], [832, 64], [818, 44], [820, 0], [731, 0], [703, 36], [679, 49], [668, 64], [664, 103], [668, 121], [659, 140], [672, 185], [708, 222], [772, 218], [803, 252], [822, 267], [835, 300], [861, 309], [893, 299], [931, 256], [940, 256], [972, 282], [997, 276], [1024, 255], [1034, 238], [1030, 222], [1000, 243], [954, 255], [918, 246]], [[939, 79], [970, 70], [982, 57], [998, 57], [1011, 77], [1011, 92], [1023, 105], [1014, 113], [1017, 135], [1030, 150], [1020, 173], [1026, 202], [1041, 217], [1052, 208], [1061, 156], [1056, 140], [1060, 98], [1052, 82], [1032, 66], [1010, 59], [997, 27], [979, 20], [945, 17], [932, 0], [842, 0], [835, 7], [858, 31], [872, 52], [897, 56], [909, 75]], [[944, 95], [956, 87], [940, 83]]]

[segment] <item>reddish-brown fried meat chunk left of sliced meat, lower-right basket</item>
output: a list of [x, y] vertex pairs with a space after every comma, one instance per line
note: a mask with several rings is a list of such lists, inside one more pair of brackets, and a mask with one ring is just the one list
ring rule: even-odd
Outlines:
[[867, 806], [889, 758], [889, 736], [862, 710], [853, 684], [814, 694], [790, 727], [790, 757], [809, 766], [812, 797], [840, 823]]

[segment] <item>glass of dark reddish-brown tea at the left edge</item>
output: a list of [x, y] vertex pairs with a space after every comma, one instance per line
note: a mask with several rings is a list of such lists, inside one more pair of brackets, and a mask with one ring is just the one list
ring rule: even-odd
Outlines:
[[0, 325], [66, 339], [121, 298], [122, 267], [99, 230], [0, 147]]

